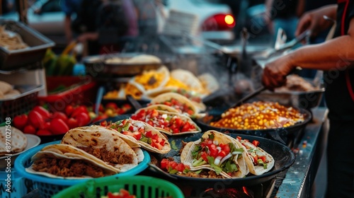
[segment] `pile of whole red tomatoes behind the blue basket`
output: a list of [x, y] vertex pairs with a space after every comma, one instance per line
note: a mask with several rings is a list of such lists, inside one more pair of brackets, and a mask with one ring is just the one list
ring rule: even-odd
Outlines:
[[45, 107], [35, 106], [28, 115], [13, 117], [14, 127], [25, 134], [38, 136], [64, 134], [69, 129], [85, 126], [91, 122], [86, 106], [67, 105], [64, 112], [50, 112]]

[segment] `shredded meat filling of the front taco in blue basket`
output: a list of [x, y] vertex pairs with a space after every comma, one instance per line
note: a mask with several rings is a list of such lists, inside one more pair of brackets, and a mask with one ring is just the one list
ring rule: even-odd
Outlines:
[[103, 177], [103, 169], [86, 161], [40, 158], [33, 163], [33, 170], [60, 177]]

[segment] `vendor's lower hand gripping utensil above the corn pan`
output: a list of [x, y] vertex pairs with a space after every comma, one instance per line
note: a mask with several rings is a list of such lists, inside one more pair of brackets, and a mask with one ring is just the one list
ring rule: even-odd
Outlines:
[[291, 55], [287, 54], [266, 64], [262, 74], [263, 86], [271, 91], [274, 88], [283, 86], [286, 83], [286, 76], [295, 69], [295, 65], [292, 64], [291, 60]]

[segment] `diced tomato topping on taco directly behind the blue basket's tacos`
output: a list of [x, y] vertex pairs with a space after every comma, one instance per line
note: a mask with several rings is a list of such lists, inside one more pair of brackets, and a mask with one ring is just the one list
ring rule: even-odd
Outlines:
[[121, 134], [132, 136], [137, 139], [137, 141], [143, 141], [159, 150], [165, 145], [164, 139], [159, 137], [158, 134], [154, 134], [151, 130], [146, 130], [141, 122], [133, 123], [132, 120], [125, 119], [115, 122], [109, 127], [117, 130]]

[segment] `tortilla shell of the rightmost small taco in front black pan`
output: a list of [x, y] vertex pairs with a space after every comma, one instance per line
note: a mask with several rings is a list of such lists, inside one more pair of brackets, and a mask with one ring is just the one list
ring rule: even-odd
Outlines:
[[[246, 162], [247, 166], [249, 167], [250, 173], [252, 173], [253, 175], [263, 175], [264, 173], [267, 173], [270, 169], [273, 168], [273, 166], [274, 166], [273, 156], [271, 156], [269, 153], [265, 152], [262, 148], [260, 148], [258, 146], [254, 146], [254, 144], [252, 144], [251, 142], [244, 141], [242, 139], [241, 139], [241, 142], [239, 142], [238, 144], [240, 146], [246, 145], [249, 148], [257, 149], [258, 152], [262, 153], [268, 161], [267, 168], [263, 168], [263, 166], [261, 166], [261, 165], [253, 165], [253, 157], [249, 156], [249, 154], [247, 153], [246, 158], [245, 158], [245, 162]], [[244, 144], [244, 145], [242, 145], [242, 144]], [[246, 146], [244, 146], [245, 150], [246, 150]]]

